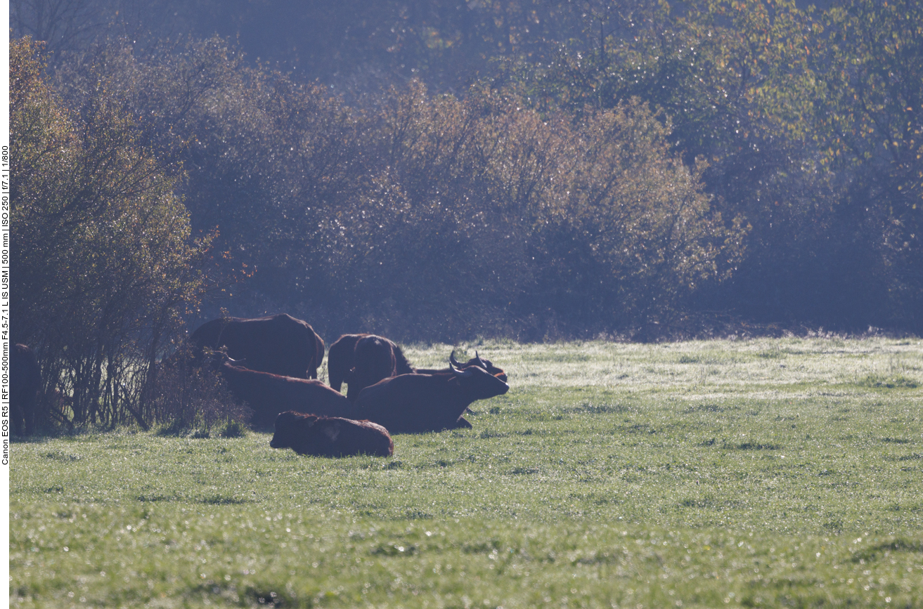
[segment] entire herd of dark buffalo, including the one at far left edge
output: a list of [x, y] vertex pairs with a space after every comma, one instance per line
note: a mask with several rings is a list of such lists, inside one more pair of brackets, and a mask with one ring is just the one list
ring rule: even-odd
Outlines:
[[[506, 373], [478, 353], [463, 364], [452, 352], [445, 368], [414, 368], [401, 347], [374, 334], [345, 334], [330, 344], [326, 385], [318, 380], [324, 341], [308, 323], [285, 314], [213, 319], [189, 336], [186, 356], [217, 368], [253, 411], [250, 424], [274, 424], [270, 447], [306, 455], [387, 456], [394, 449], [390, 434], [470, 428], [463, 414], [473, 401], [509, 390]], [[20, 436], [34, 431], [41, 387], [35, 353], [16, 344], [10, 414]]]

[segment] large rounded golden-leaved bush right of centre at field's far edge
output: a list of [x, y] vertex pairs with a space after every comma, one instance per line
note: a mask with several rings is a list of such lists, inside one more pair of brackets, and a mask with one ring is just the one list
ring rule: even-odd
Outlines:
[[512, 95], [431, 98], [412, 83], [373, 118], [373, 191], [338, 211], [326, 261], [352, 279], [334, 302], [363, 325], [415, 340], [542, 339], [530, 317], [632, 328], [737, 259], [744, 229], [711, 209], [640, 102], [574, 124]]

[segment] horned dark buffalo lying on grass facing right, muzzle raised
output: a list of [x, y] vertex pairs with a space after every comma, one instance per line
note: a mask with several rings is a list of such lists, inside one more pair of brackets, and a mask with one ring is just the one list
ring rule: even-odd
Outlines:
[[450, 375], [391, 376], [366, 387], [355, 400], [355, 417], [384, 425], [392, 434], [414, 434], [470, 426], [462, 413], [475, 400], [509, 391], [509, 385], [480, 366]]

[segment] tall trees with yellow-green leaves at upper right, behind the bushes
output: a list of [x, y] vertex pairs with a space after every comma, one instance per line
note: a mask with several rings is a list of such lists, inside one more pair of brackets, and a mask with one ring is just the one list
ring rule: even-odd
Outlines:
[[[752, 226], [702, 303], [762, 320], [919, 331], [923, 9], [845, 0], [660, 5], [521, 80], [580, 113], [636, 96], [674, 118], [706, 191]], [[601, 21], [603, 21], [601, 19]]]

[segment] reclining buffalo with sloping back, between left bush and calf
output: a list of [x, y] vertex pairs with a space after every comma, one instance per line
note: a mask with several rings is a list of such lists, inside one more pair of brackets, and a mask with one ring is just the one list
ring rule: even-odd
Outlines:
[[234, 397], [245, 400], [253, 410], [251, 423], [258, 428], [268, 426], [285, 411], [346, 417], [352, 412], [346, 396], [316, 379], [273, 375], [232, 362], [225, 362], [220, 370]]

